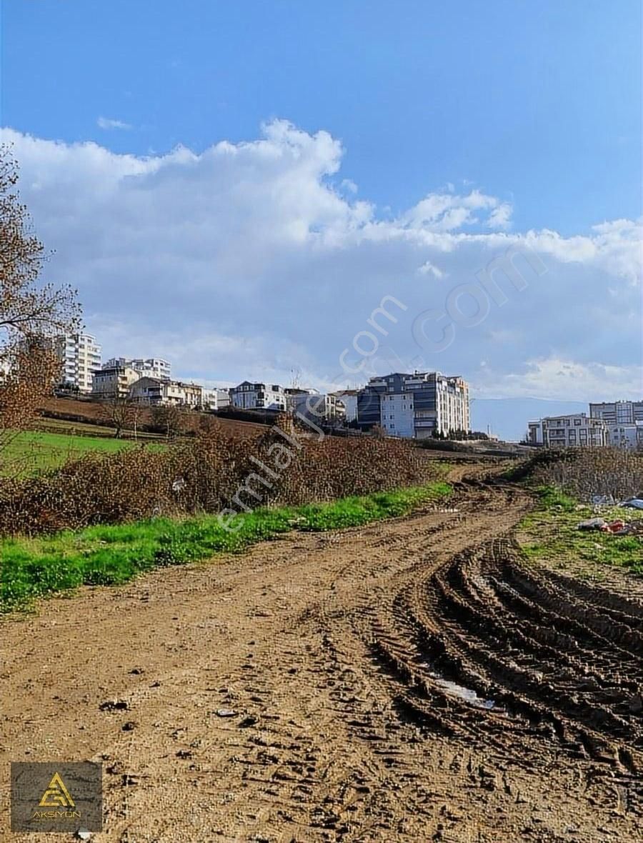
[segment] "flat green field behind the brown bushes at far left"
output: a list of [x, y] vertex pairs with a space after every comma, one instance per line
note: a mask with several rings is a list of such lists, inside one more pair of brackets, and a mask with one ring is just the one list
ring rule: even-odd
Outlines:
[[[114, 454], [137, 443], [123, 439], [78, 436], [71, 433], [24, 431], [10, 440], [0, 454], [0, 473], [29, 475], [59, 468], [83, 454]], [[153, 448], [162, 447], [154, 443]]]

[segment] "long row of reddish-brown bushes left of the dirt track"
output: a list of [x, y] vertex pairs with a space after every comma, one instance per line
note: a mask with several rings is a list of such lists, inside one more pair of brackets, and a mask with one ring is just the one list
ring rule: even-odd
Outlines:
[[[92, 524], [119, 524], [160, 515], [218, 513], [255, 475], [245, 506], [302, 505], [387, 491], [431, 479], [410, 443], [372, 437], [289, 443], [275, 428], [228, 437], [214, 423], [163, 452], [145, 446], [109, 456], [87, 455], [46, 475], [0, 481], [0, 534], [53, 533]], [[281, 448], [274, 448], [275, 445]], [[275, 451], [290, 454], [276, 469]], [[263, 466], [263, 467], [262, 467]], [[267, 470], [266, 470], [267, 469]], [[270, 473], [272, 472], [272, 474]], [[274, 475], [274, 476], [273, 476]], [[263, 481], [261, 480], [263, 478]], [[168, 548], [168, 560], [173, 549]]]

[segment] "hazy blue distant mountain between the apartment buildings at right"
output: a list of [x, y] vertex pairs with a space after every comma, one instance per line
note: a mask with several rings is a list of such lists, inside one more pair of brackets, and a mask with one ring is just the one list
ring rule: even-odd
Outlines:
[[589, 413], [584, 401], [550, 401], [544, 398], [474, 398], [471, 400], [471, 429], [496, 433], [501, 439], [519, 442], [527, 422], [542, 416]]

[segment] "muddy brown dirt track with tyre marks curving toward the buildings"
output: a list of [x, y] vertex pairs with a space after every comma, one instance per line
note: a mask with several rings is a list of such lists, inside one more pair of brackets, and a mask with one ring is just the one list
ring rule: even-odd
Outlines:
[[2, 839], [8, 761], [61, 759], [96, 840], [643, 840], [643, 604], [523, 566], [515, 488], [453, 506], [4, 623]]

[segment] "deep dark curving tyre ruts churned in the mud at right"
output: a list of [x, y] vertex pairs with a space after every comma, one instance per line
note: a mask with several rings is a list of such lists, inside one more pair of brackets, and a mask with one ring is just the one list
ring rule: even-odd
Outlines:
[[534, 738], [609, 765], [643, 814], [640, 602], [529, 566], [502, 537], [414, 572], [372, 635], [405, 717], [527, 765]]

